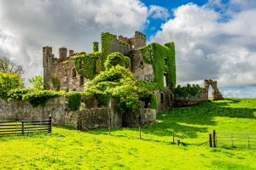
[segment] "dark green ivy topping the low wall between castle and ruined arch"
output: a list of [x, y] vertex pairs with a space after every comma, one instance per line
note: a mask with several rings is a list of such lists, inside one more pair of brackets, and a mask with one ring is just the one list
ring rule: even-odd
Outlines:
[[195, 96], [200, 92], [201, 88], [198, 84], [187, 84], [185, 87], [181, 87], [180, 85], [177, 86], [174, 90], [174, 94], [177, 94], [180, 97], [188, 97], [189, 95]]

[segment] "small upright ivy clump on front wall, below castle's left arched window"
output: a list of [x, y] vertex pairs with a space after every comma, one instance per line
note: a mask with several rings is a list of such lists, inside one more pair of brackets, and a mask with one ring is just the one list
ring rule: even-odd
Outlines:
[[80, 101], [82, 93], [80, 92], [69, 92], [68, 96], [68, 105], [71, 111], [79, 111]]

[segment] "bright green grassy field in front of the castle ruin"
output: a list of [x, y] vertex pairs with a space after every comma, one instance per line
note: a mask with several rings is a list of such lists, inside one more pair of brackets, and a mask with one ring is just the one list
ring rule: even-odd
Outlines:
[[[0, 137], [0, 169], [256, 169], [256, 150], [208, 144], [213, 129], [256, 133], [256, 99], [223, 99], [174, 108], [158, 123], [137, 128], [80, 132], [53, 127], [53, 133]], [[172, 131], [182, 144], [172, 144]]]

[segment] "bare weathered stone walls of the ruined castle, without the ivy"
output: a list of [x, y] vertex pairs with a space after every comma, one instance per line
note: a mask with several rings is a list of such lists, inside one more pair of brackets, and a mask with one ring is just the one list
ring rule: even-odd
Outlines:
[[[102, 34], [102, 39], [105, 34]], [[103, 62], [106, 60], [108, 54], [113, 54], [114, 52], [119, 52], [124, 54], [125, 56], [131, 59], [131, 72], [137, 78], [137, 80], [154, 82], [154, 66], [148, 64], [143, 58], [143, 54], [139, 50], [146, 46], [147, 37], [139, 32], [135, 31], [134, 37], [127, 38], [123, 36], [115, 36], [107, 33], [107, 36], [111, 37], [111, 41], [106, 43], [102, 42], [102, 51], [98, 51], [98, 42], [93, 42], [94, 53], [88, 55], [97, 55], [101, 54], [103, 57], [101, 59], [96, 59], [96, 62], [90, 65], [90, 67], [94, 67], [95, 73], [99, 74], [104, 68], [98, 68], [97, 62]], [[168, 46], [164, 46], [164, 48], [168, 48]], [[174, 47], [173, 47], [174, 50]], [[84, 52], [83, 52], [84, 53]], [[80, 53], [80, 54], [83, 54]], [[85, 53], [84, 53], [85, 54]], [[43, 48], [43, 66], [44, 66], [44, 89], [53, 89], [54, 84], [52, 79], [55, 78], [60, 81], [60, 89], [66, 91], [84, 91], [84, 83], [90, 81], [89, 78], [82, 76], [79, 72], [84, 69], [88, 65], [76, 67], [76, 57], [79, 55], [78, 53], [74, 53], [73, 50], [69, 50], [69, 54], [67, 55], [67, 48], [59, 48], [59, 58], [55, 58], [55, 55], [52, 54], [51, 47]], [[105, 56], [104, 56], [105, 55]], [[175, 56], [173, 56], [175, 58]], [[105, 60], [104, 60], [105, 59]], [[174, 61], [175, 62], [175, 61]], [[102, 65], [102, 64], [100, 64]], [[175, 70], [175, 67], [173, 68]], [[164, 80], [165, 73], [162, 72], [160, 77], [162, 78], [162, 82], [166, 82]], [[171, 93], [169, 88], [161, 88], [161, 90], [154, 91], [154, 94], [157, 96], [159, 100], [160, 109], [162, 111], [164, 109], [168, 109], [172, 106], [173, 103], [173, 94]], [[163, 90], [165, 89], [165, 90]], [[168, 102], [168, 104], [166, 103]]]

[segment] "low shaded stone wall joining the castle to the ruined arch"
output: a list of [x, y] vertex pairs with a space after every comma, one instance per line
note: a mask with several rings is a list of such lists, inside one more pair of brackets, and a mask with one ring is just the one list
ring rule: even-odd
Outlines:
[[208, 92], [206, 88], [201, 88], [201, 91], [195, 96], [189, 95], [188, 97], [179, 97], [177, 94], [174, 96], [174, 106], [182, 107], [189, 105], [196, 105], [204, 101], [208, 101]]

